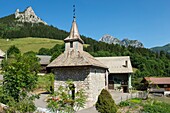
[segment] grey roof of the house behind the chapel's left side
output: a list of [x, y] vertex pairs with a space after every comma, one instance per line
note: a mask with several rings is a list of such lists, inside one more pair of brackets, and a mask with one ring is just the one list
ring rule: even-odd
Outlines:
[[40, 58], [41, 65], [48, 65], [50, 63], [51, 56], [48, 55], [36, 55], [36, 56]]

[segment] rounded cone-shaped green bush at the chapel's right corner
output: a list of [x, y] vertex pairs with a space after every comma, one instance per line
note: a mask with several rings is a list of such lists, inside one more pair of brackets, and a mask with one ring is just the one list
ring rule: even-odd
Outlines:
[[116, 113], [117, 112], [117, 106], [112, 99], [112, 96], [110, 93], [103, 89], [98, 97], [98, 100], [96, 102], [96, 109], [100, 113]]

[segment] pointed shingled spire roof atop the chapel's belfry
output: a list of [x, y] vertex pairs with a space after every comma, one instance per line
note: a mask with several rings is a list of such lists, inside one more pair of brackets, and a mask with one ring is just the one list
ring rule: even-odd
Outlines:
[[78, 27], [77, 27], [75, 18], [72, 22], [70, 35], [67, 38], [64, 39], [64, 42], [70, 42], [70, 41], [79, 41], [82, 44], [84, 44], [84, 41], [80, 38], [80, 34], [79, 34], [79, 31], [78, 31]]

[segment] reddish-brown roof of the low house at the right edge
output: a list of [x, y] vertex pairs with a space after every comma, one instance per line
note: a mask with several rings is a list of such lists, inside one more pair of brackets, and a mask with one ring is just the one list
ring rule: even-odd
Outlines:
[[141, 82], [144, 81], [149, 84], [170, 84], [170, 77], [144, 77]]

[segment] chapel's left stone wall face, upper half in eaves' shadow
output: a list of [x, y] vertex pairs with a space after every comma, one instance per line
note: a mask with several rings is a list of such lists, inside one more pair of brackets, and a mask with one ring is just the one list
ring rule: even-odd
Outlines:
[[[65, 85], [67, 80], [72, 80], [75, 85], [75, 91], [83, 89], [89, 101], [89, 81], [90, 68], [88, 67], [72, 67], [72, 68], [58, 68], [54, 70], [55, 82], [54, 90], [56, 91], [60, 85]], [[87, 107], [87, 104], [85, 105]]]

